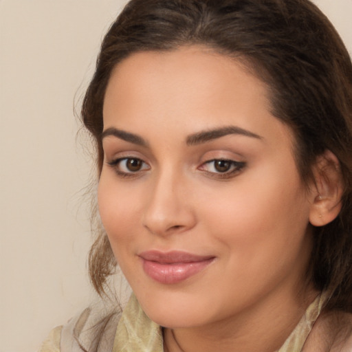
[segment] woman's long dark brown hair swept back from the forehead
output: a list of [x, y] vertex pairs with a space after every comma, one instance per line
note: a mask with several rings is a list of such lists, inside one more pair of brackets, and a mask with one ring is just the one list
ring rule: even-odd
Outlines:
[[[133, 52], [206, 45], [243, 61], [270, 89], [272, 113], [296, 136], [304, 181], [329, 149], [344, 179], [337, 219], [314, 233], [310, 279], [331, 295], [328, 309], [352, 311], [352, 65], [333, 25], [309, 0], [132, 0], [102, 42], [82, 116], [94, 136], [98, 173], [104, 93], [112, 69]], [[96, 290], [115, 267], [106, 234], [89, 254]]]

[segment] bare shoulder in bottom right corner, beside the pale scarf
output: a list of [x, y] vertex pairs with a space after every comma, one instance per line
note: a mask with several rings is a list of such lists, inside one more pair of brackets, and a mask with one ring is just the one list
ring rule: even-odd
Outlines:
[[341, 311], [321, 314], [303, 352], [352, 352], [352, 314]]

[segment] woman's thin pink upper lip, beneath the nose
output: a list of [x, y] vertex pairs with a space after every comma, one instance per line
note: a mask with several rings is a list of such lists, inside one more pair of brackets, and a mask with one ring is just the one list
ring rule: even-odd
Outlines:
[[210, 255], [198, 255], [183, 251], [173, 250], [170, 252], [160, 252], [158, 250], [148, 250], [138, 254], [146, 261], [155, 261], [157, 263], [172, 264], [172, 263], [193, 263], [199, 261], [207, 261], [214, 259]]

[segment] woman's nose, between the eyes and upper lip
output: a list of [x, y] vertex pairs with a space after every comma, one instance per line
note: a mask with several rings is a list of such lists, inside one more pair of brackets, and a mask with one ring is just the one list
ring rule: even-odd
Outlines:
[[147, 198], [142, 223], [149, 232], [166, 236], [195, 226], [191, 193], [180, 175], [173, 175], [169, 170], [156, 177]]

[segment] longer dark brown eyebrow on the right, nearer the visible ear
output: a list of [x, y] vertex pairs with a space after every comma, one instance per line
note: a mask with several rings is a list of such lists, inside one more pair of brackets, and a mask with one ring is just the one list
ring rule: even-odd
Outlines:
[[241, 129], [238, 126], [225, 126], [219, 129], [211, 129], [208, 131], [201, 131], [192, 135], [189, 135], [186, 139], [186, 143], [189, 146], [210, 142], [217, 138], [224, 137], [225, 135], [244, 135], [245, 137], [252, 137], [256, 139], [263, 139], [260, 135], [252, 133], [246, 129]]

